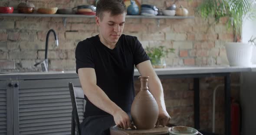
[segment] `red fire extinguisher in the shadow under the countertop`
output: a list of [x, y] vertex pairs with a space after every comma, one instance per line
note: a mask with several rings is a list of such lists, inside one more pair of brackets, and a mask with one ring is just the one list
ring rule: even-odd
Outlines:
[[240, 135], [240, 105], [231, 98], [231, 135]]

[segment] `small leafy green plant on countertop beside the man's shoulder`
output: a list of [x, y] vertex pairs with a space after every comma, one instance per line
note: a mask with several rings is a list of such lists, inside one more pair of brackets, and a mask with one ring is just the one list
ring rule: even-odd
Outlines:
[[161, 60], [161, 58], [166, 58], [170, 52], [174, 53], [174, 50], [174, 48], [166, 48], [165, 46], [147, 46], [145, 48], [145, 51], [148, 54], [152, 64], [156, 64], [159, 60]]

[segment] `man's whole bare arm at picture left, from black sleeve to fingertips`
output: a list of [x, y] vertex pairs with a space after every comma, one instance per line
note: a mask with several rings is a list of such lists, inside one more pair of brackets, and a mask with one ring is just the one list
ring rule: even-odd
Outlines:
[[82, 89], [88, 100], [99, 109], [111, 114], [114, 117], [116, 125], [127, 129], [131, 125], [128, 115], [97, 86], [95, 70], [93, 68], [79, 68], [78, 75]]

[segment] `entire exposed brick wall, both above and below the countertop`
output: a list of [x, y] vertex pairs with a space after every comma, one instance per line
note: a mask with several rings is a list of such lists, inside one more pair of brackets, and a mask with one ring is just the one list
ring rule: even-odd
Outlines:
[[[75, 7], [92, 4], [94, 0], [30, 0], [38, 7]], [[159, 8], [170, 6], [174, 0], [138, 0], [154, 4]], [[201, 19], [195, 14], [202, 0], [179, 0], [194, 19], [126, 19], [125, 34], [135, 35], [142, 45], [165, 45], [175, 48], [175, 53], [167, 58], [168, 66], [203, 66], [228, 64], [224, 42], [233, 41], [233, 32], [225, 29], [226, 19], [213, 24], [213, 18]], [[1, 0], [0, 6], [16, 7], [21, 0]], [[67, 18], [63, 26], [62, 18], [53, 17], [0, 17], [0, 71], [40, 71], [33, 64], [44, 59], [46, 33], [54, 29], [59, 37], [59, 47], [54, 48], [54, 38], [49, 37], [49, 70], [75, 70], [75, 46], [83, 39], [98, 34], [94, 18]], [[235, 75], [237, 76], [237, 75]], [[234, 77], [232, 77], [234, 79]], [[168, 112], [173, 122], [193, 126], [193, 84], [191, 79], [162, 80]], [[178, 82], [178, 83], [177, 83]], [[239, 80], [234, 80], [239, 83]], [[222, 78], [200, 80], [201, 127], [211, 127], [211, 97], [213, 88], [223, 83]], [[136, 88], [139, 82], [136, 82]], [[223, 90], [220, 90], [222, 92]], [[223, 93], [217, 101], [217, 132], [223, 133]], [[236, 94], [237, 96], [237, 94]], [[219, 123], [218, 123], [219, 122]]]

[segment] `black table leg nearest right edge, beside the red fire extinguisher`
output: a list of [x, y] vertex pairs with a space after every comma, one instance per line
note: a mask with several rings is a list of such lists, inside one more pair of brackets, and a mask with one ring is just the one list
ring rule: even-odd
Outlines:
[[230, 101], [230, 74], [225, 76], [225, 135], [231, 134], [231, 101]]

